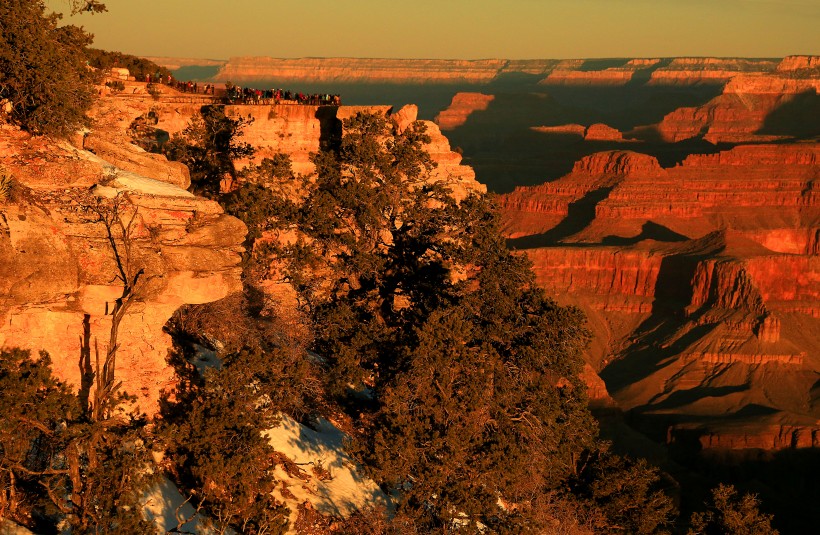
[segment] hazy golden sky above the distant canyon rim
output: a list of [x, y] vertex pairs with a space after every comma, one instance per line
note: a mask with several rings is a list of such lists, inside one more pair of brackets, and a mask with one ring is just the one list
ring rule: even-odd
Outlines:
[[[66, 11], [67, 0], [47, 0]], [[536, 59], [820, 54], [820, 0], [106, 0], [141, 56]]]

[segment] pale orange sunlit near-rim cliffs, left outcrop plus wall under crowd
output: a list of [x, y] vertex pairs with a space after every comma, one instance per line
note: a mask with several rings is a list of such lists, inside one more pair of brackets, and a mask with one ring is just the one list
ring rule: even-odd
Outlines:
[[[122, 92], [101, 88], [92, 110], [94, 127], [71, 143], [34, 137], [12, 126], [0, 128], [3, 167], [14, 177], [13, 198], [0, 205], [0, 346], [49, 353], [55, 375], [80, 384], [78, 365], [83, 323], [101, 352], [111, 327], [110, 310], [122, 293], [106, 227], [95, 209], [120, 199], [119, 219], [127, 244], [115, 228], [119, 253], [144, 270], [138, 298], [119, 328], [117, 377], [137, 396], [137, 408], [156, 413], [163, 390], [174, 386], [167, 362], [172, 347], [165, 324], [185, 304], [217, 301], [242, 290], [240, 254], [247, 229], [211, 200], [187, 191], [188, 169], [131, 143], [135, 119], [155, 114], [164, 138], [180, 133], [204, 101], [182, 99], [164, 88], [159, 100], [146, 84], [125, 82]], [[359, 111], [389, 116], [398, 128], [414, 122], [407, 106], [228, 106], [230, 117], [251, 120], [244, 141], [253, 160], [287, 154], [294, 171], [313, 172], [310, 153], [328, 136], [341, 134], [341, 120]], [[470, 167], [435, 123], [427, 122], [428, 150], [437, 163], [431, 180], [445, 182], [458, 198], [485, 192]], [[101, 204], [102, 203], [102, 204]]]

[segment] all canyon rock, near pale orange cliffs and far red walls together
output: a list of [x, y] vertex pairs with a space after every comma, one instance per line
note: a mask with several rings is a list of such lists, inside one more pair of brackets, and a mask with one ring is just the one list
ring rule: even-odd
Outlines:
[[[248, 84], [446, 86], [449, 106], [425, 121], [432, 178], [459, 198], [498, 194], [510, 247], [585, 312], [584, 378], [602, 418], [687, 455], [820, 447], [816, 56], [166, 64]], [[246, 229], [187, 192], [184, 166], [130, 143], [138, 118], [153, 113], [167, 139], [210, 100], [124, 86], [101, 89], [94, 128], [72, 144], [0, 128], [19, 184], [0, 205], [0, 345], [44, 349], [78, 384], [84, 318], [105, 339], [122, 289], [89, 208], [119, 193], [145, 286], [120, 329], [118, 373], [150, 414], [174, 381], [164, 325], [183, 304], [241, 290]], [[397, 128], [423, 115], [373, 102], [225, 108], [251, 120], [256, 153], [240, 167], [284, 153], [299, 174], [362, 110]]]

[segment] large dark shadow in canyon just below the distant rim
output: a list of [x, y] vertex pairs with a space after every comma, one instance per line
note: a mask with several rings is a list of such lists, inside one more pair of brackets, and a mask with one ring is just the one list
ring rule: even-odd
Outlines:
[[621, 87], [535, 86], [529, 92], [495, 92], [486, 110], [471, 113], [463, 125], [444, 133], [463, 150], [464, 163], [476, 170], [478, 180], [496, 193], [555, 180], [571, 171], [580, 158], [605, 150], [650, 154], [664, 167], [690, 154], [715, 152], [714, 145], [700, 139], [665, 143], [650, 136], [631, 142], [586, 141], [580, 135], [532, 130], [604, 123], [629, 132], [657, 123], [679, 107], [703, 104], [720, 92], [718, 86], [646, 86], [651, 70], [639, 71], [638, 80]]

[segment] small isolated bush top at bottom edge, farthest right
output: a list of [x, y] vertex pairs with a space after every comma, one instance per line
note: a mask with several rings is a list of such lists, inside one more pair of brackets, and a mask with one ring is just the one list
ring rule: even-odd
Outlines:
[[739, 498], [733, 486], [718, 485], [707, 510], [692, 515], [689, 535], [777, 535], [772, 516], [761, 513], [759, 505], [751, 494]]

